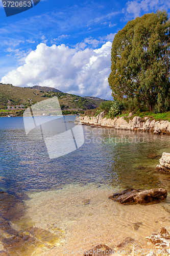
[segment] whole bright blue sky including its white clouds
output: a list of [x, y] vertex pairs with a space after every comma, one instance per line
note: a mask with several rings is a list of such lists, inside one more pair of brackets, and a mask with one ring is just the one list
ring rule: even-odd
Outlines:
[[169, 12], [170, 2], [41, 0], [10, 17], [1, 3], [1, 82], [112, 99], [107, 77], [114, 35], [157, 9]]

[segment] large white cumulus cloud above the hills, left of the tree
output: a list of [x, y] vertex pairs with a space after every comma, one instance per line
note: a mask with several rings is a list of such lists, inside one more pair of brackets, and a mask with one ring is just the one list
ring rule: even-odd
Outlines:
[[41, 43], [28, 54], [25, 63], [10, 71], [1, 82], [14, 86], [47, 86], [81, 96], [112, 99], [110, 74], [111, 42], [99, 49], [84, 50]]

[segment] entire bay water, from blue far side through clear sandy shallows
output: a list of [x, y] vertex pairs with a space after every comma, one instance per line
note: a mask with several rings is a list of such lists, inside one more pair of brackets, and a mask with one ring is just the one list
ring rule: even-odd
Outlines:
[[[51, 117], [48, 118], [50, 121]], [[74, 121], [75, 116], [65, 118], [67, 128], [72, 127], [74, 124], [68, 121]], [[170, 137], [90, 126], [83, 126], [83, 130], [85, 143], [78, 150], [51, 160], [36, 131], [26, 135], [22, 117], [0, 119], [0, 176], [4, 177], [0, 188], [9, 194], [27, 195], [30, 199], [22, 201], [23, 214], [15, 218], [14, 212], [10, 219], [14, 229], [30, 232], [34, 237], [37, 235], [28, 231], [29, 228], [64, 233], [59, 236], [58, 244], [54, 243], [55, 248], [46, 246], [41, 236], [39, 239], [46, 247], [41, 251], [34, 244], [35, 255], [62, 255], [63, 246], [86, 249], [99, 243], [115, 246], [115, 241], [127, 236], [141, 242], [155, 227], [161, 227], [162, 223], [156, 222], [159, 212], [162, 211], [162, 218], [167, 223], [169, 221], [169, 214], [164, 210], [169, 205], [168, 200], [147, 206], [154, 221], [151, 224], [145, 206], [118, 205], [108, 200], [108, 196], [127, 187], [162, 187], [169, 191], [170, 175], [156, 172], [155, 167], [163, 152], [170, 153]], [[136, 222], [142, 224], [134, 229]], [[89, 225], [88, 233], [82, 231], [86, 228], [85, 223]], [[35, 248], [30, 250], [35, 251]], [[32, 255], [26, 249], [15, 254], [16, 248], [10, 253]]]

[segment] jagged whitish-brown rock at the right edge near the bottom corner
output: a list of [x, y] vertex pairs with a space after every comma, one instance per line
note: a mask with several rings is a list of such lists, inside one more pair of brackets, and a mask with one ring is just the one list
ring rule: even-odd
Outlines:
[[157, 247], [165, 248], [170, 246], [170, 234], [165, 227], [162, 227], [159, 233], [153, 233], [150, 237], [146, 237], [146, 239], [149, 239]]

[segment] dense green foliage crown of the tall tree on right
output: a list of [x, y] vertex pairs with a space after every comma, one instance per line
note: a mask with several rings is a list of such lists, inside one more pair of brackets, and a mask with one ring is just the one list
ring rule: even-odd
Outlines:
[[108, 78], [117, 100], [135, 99], [139, 108], [170, 109], [170, 20], [165, 11], [131, 20], [115, 35]]

